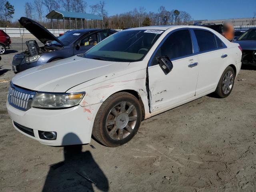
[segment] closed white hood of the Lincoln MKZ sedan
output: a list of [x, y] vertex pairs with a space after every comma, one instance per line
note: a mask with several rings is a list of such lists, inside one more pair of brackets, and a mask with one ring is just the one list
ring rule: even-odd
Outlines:
[[12, 78], [12, 83], [34, 91], [66, 92], [99, 76], [123, 71], [129, 62], [110, 62], [73, 56], [30, 68]]

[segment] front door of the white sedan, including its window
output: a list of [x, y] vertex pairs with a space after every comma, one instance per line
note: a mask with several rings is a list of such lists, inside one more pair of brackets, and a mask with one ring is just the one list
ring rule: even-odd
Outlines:
[[[158, 57], [168, 56], [173, 68], [164, 74], [158, 63]], [[198, 79], [197, 56], [193, 55], [193, 46], [189, 30], [170, 32], [153, 55], [148, 67], [151, 112], [174, 106], [193, 98]]]

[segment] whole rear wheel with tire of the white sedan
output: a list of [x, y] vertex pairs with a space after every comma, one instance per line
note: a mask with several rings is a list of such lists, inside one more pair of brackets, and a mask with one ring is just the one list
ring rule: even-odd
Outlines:
[[229, 96], [234, 87], [235, 77], [234, 69], [231, 66], [228, 66], [220, 77], [215, 94], [220, 98]]

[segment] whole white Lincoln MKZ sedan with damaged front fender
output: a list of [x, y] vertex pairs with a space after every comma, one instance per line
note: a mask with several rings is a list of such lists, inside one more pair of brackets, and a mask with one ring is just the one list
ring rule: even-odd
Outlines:
[[200, 26], [118, 32], [85, 54], [12, 78], [6, 106], [14, 127], [51, 146], [120, 146], [140, 122], [215, 92], [227, 97], [241, 68], [239, 44]]

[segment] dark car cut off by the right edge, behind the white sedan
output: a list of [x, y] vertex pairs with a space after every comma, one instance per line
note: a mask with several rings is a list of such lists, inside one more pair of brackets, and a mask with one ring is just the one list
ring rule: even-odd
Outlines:
[[242, 64], [256, 65], [256, 27], [244, 32], [234, 42], [242, 48]]

